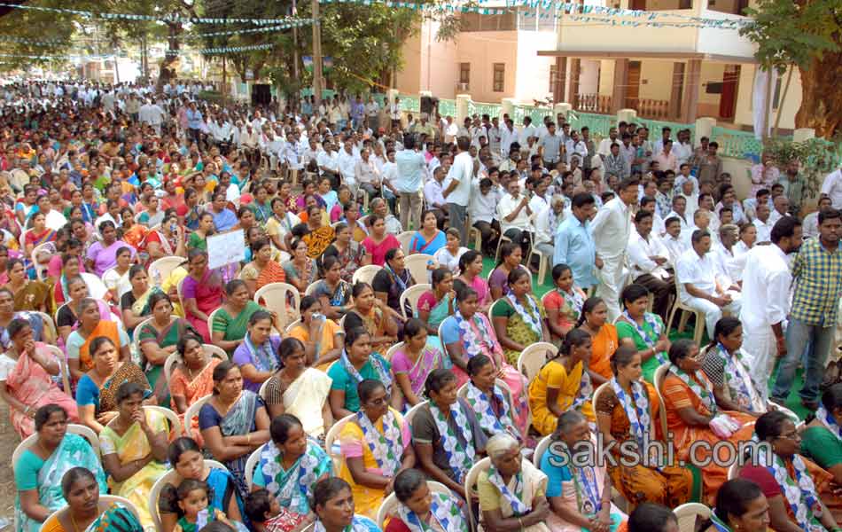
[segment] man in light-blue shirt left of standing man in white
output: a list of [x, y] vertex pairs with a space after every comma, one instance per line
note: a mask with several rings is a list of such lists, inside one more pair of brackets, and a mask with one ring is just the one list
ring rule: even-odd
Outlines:
[[567, 264], [573, 271], [573, 282], [582, 290], [596, 285], [594, 268], [596, 265], [596, 246], [590, 232], [590, 218], [596, 203], [588, 192], [573, 196], [572, 216], [567, 216], [556, 231], [555, 254], [553, 265]]

